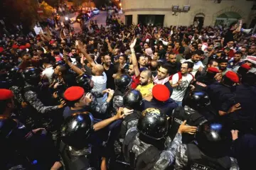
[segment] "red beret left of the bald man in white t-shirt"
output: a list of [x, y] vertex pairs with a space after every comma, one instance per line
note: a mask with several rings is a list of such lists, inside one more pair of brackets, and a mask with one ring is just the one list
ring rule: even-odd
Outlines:
[[80, 86], [71, 86], [64, 92], [64, 98], [67, 101], [77, 101], [85, 94], [85, 90]]

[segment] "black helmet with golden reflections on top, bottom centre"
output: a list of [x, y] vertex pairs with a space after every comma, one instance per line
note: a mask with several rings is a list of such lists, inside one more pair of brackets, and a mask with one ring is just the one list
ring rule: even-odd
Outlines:
[[140, 115], [137, 129], [140, 134], [153, 140], [161, 140], [168, 131], [166, 115], [156, 108], [146, 108]]

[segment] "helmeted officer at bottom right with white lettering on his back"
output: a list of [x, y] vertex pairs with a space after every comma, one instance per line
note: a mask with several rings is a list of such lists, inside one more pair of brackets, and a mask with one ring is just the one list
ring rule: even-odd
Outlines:
[[175, 169], [239, 169], [228, 157], [232, 136], [222, 123], [206, 122], [198, 127], [196, 141], [178, 146]]

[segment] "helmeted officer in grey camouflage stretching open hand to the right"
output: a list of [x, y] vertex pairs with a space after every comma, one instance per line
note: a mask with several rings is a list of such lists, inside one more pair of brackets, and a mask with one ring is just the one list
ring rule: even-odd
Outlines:
[[130, 128], [124, 139], [123, 153], [134, 169], [166, 169], [174, 162], [183, 132], [196, 132], [196, 127], [182, 123], [171, 142], [166, 115], [159, 109], [147, 108], [139, 117], [137, 128]]

